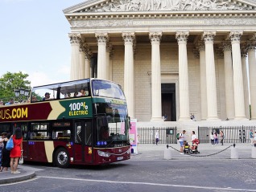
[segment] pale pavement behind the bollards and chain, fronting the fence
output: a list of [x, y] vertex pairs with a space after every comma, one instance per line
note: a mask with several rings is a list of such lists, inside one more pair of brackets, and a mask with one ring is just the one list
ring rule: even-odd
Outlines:
[[[171, 160], [230, 160], [231, 149], [233, 144], [225, 143], [224, 145], [211, 145], [209, 143], [203, 143], [198, 145], [198, 151], [200, 153], [192, 155], [180, 154], [180, 144], [168, 144], [171, 149]], [[254, 146], [250, 143], [237, 143], [236, 147], [238, 153], [238, 160], [251, 160], [252, 149]], [[167, 144], [139, 144], [138, 154], [133, 154], [132, 161], [163, 161], [164, 151], [167, 149]]]

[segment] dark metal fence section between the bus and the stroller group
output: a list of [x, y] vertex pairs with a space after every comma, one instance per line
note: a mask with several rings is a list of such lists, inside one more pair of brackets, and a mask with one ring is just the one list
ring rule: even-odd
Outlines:
[[159, 131], [159, 144], [174, 144], [177, 143], [176, 127], [139, 127], [139, 143], [155, 144], [155, 133]]

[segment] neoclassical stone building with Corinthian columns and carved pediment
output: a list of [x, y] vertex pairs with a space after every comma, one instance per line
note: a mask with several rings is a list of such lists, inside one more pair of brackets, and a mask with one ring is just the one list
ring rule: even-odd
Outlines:
[[138, 121], [240, 121], [250, 104], [256, 119], [256, 1], [89, 0], [64, 15], [71, 80], [118, 82]]

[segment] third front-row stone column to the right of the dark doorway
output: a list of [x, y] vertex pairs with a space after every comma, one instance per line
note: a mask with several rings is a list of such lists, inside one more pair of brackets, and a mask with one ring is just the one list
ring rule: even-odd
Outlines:
[[242, 60], [240, 50], [240, 37], [242, 31], [231, 31], [229, 38], [232, 44], [233, 59], [233, 94], [235, 106], [235, 119], [246, 119], [244, 85], [242, 80]]

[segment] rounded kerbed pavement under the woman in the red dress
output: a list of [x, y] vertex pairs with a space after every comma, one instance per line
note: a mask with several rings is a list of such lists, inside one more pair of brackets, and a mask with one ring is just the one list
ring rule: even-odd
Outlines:
[[10, 174], [10, 167], [9, 171], [0, 172], [0, 185], [12, 182], [22, 182], [27, 179], [31, 179], [35, 177], [35, 171], [31, 170], [29, 167], [24, 165], [19, 165], [18, 170], [20, 174]]

